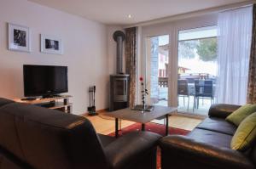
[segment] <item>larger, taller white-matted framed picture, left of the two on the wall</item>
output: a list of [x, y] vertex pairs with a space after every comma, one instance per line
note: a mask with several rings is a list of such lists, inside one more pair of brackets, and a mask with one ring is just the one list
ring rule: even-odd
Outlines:
[[31, 52], [29, 27], [9, 23], [8, 33], [9, 50]]

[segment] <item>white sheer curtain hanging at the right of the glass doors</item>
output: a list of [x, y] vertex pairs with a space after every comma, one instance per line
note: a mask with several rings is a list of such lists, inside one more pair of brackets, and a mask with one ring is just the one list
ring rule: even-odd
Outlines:
[[218, 14], [217, 103], [246, 103], [252, 20], [252, 7]]

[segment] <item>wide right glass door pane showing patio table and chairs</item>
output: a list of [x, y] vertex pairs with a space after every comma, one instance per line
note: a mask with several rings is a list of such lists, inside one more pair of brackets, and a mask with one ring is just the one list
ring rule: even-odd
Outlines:
[[178, 112], [207, 115], [214, 103], [217, 42], [216, 26], [178, 32]]

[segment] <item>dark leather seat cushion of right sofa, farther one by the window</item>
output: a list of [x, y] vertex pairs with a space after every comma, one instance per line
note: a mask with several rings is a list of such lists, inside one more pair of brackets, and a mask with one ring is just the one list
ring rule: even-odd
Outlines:
[[236, 132], [236, 126], [224, 119], [217, 117], [207, 117], [196, 128], [211, 130], [212, 132], [221, 132], [233, 136]]

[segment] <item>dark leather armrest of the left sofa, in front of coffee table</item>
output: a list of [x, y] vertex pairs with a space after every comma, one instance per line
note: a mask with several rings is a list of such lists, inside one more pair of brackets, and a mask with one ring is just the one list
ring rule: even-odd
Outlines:
[[[154, 149], [153, 156], [156, 161], [156, 145], [160, 138], [160, 135], [153, 132], [131, 132], [118, 138], [108, 144], [105, 149], [110, 166], [112, 168], [130, 168], [129, 166], [135, 165], [137, 161], [145, 161], [143, 158], [148, 156], [152, 149]], [[150, 160], [146, 161], [149, 163]]]

